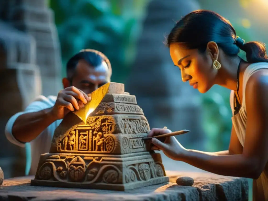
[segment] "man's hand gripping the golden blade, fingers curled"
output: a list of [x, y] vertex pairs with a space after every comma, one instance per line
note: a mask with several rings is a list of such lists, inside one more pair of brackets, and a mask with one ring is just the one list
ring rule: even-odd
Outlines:
[[65, 117], [69, 111], [79, 110], [80, 107], [91, 101], [91, 97], [74, 86], [67, 87], [58, 93], [58, 97], [51, 114], [56, 120]]

